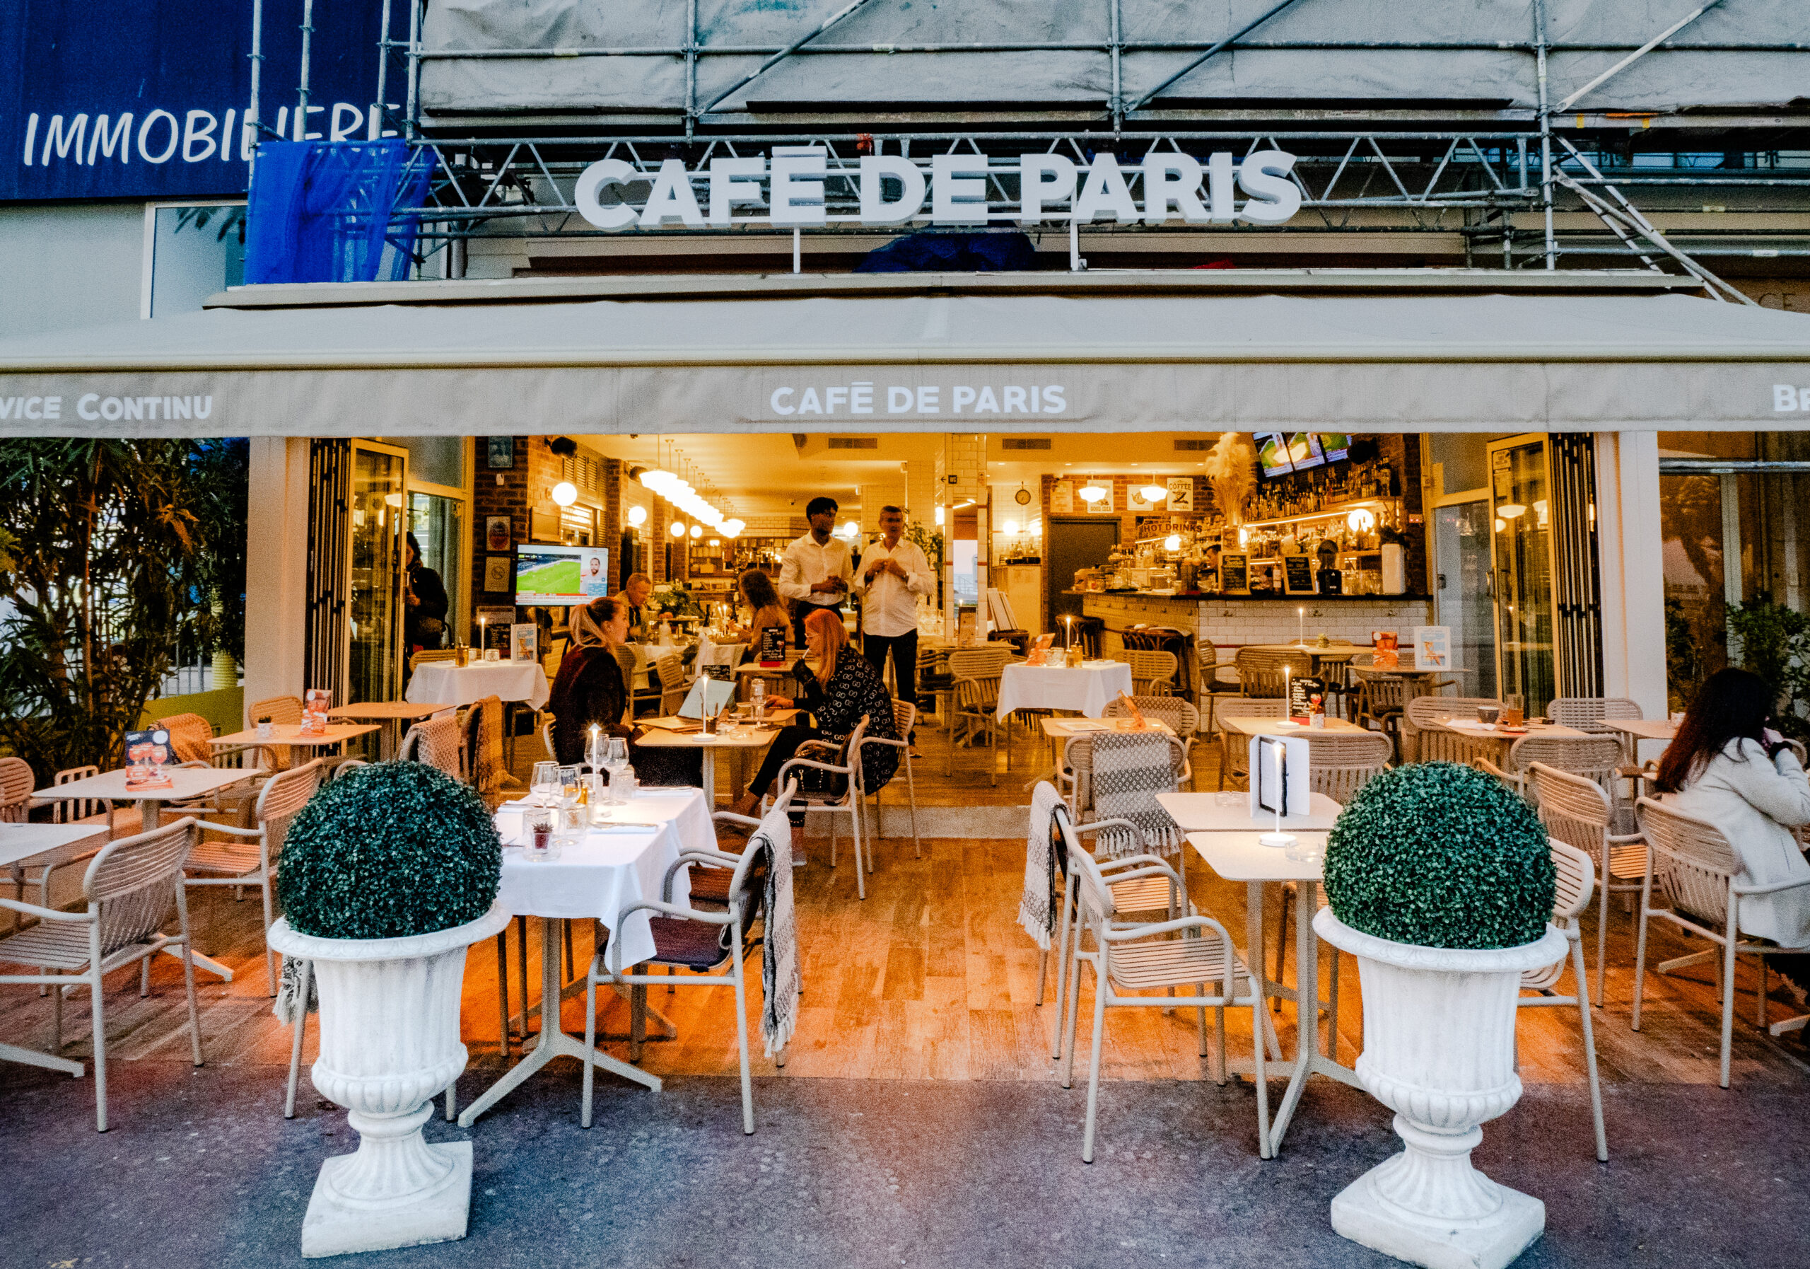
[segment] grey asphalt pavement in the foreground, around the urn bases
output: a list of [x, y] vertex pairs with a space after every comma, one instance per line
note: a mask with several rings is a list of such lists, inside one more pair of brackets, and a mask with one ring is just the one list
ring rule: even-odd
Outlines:
[[[282, 1066], [114, 1063], [112, 1130], [90, 1079], [0, 1068], [0, 1265], [299, 1265], [320, 1162], [357, 1146], [342, 1110]], [[487, 1079], [467, 1073], [460, 1101]], [[1272, 1088], [1280, 1095], [1281, 1083]], [[1604, 1090], [1607, 1164], [1580, 1086], [1529, 1084], [1484, 1126], [1475, 1162], [1546, 1202], [1517, 1262], [1801, 1269], [1810, 1249], [1810, 1106], [1794, 1090]], [[471, 1131], [471, 1231], [431, 1247], [310, 1264], [512, 1269], [1213, 1265], [1397, 1262], [1332, 1233], [1327, 1204], [1397, 1150], [1388, 1112], [1314, 1081], [1281, 1157], [1256, 1157], [1238, 1081], [1110, 1083], [1097, 1160], [1081, 1162], [1086, 1090], [1053, 1081], [755, 1081], [740, 1131], [733, 1079], [648, 1093], [599, 1077], [577, 1126], [579, 1072], [557, 1063]], [[1274, 1104], [1274, 1102], [1272, 1102]]]

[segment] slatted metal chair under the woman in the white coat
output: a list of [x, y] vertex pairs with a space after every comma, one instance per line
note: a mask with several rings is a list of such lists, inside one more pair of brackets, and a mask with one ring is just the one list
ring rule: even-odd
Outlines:
[[[1767, 970], [1768, 952], [1779, 952], [1770, 943], [1743, 943], [1739, 934], [1739, 903], [1747, 894], [1779, 894], [1810, 885], [1810, 878], [1774, 882], [1770, 885], [1743, 885], [1741, 856], [1709, 820], [1685, 815], [1653, 798], [1634, 804], [1640, 833], [1647, 838], [1647, 873], [1640, 882], [1640, 934], [1634, 941], [1634, 1017], [1640, 1030], [1640, 996], [1647, 985], [1647, 921], [1660, 918], [1692, 934], [1701, 934], [1716, 945], [1712, 952], [1698, 952], [1663, 961], [1658, 970], [1667, 974], [1705, 956], [1721, 961], [1721, 1086], [1729, 1086], [1729, 1055], [1734, 1048], [1734, 961], [1739, 956], [1759, 958], [1759, 988], [1756, 1008], [1759, 1025], [1767, 1025]], [[1658, 882], [1671, 907], [1653, 907], [1653, 885]]]

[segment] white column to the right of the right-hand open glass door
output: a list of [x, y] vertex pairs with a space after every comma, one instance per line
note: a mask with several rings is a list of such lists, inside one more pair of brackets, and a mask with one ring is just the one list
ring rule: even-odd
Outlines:
[[1660, 434], [1596, 433], [1596, 550], [1604, 695], [1665, 717]]

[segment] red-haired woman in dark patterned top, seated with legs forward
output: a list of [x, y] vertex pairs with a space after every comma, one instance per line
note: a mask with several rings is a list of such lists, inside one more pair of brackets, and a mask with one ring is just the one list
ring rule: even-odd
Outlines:
[[[804, 619], [805, 646], [816, 657], [816, 673], [800, 661], [793, 666], [793, 677], [804, 684], [804, 699], [767, 697], [778, 710], [804, 708], [816, 719], [816, 726], [780, 728], [767, 748], [767, 757], [760, 762], [760, 771], [748, 784], [748, 795], [735, 804], [740, 815], [749, 815], [755, 804], [773, 787], [780, 768], [796, 757], [798, 746], [805, 740], [833, 740], [842, 744], [867, 719], [867, 735], [885, 740], [898, 740], [898, 724], [892, 715], [892, 697], [887, 695], [880, 673], [856, 652], [849, 650], [849, 632], [842, 626], [842, 615], [818, 608]], [[869, 793], [883, 789], [892, 773], [898, 771], [900, 751], [891, 744], [872, 744], [862, 748], [862, 784]], [[804, 769], [800, 787], [813, 793], [840, 789], [842, 777], [825, 771]], [[831, 786], [834, 782], [834, 787]], [[796, 804], [795, 804], [796, 806]], [[793, 851], [804, 849], [804, 811], [791, 811]]]

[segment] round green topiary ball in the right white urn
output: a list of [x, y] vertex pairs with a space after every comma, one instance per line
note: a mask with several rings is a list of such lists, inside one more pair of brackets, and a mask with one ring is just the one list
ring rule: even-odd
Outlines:
[[1499, 780], [1415, 762], [1358, 791], [1327, 838], [1327, 902], [1356, 930], [1419, 947], [1520, 947], [1546, 932], [1546, 829]]

